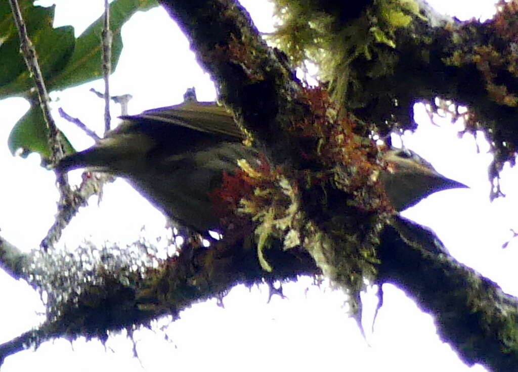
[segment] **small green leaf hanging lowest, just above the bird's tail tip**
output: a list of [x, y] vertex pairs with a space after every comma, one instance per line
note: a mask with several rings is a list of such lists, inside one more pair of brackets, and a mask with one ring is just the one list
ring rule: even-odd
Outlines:
[[[21, 148], [23, 150], [21, 156], [23, 157], [36, 152], [42, 158], [49, 159], [51, 151], [48, 136], [49, 130], [41, 109], [38, 105], [33, 105], [12, 128], [7, 144], [13, 155]], [[61, 136], [65, 153], [75, 152], [68, 139], [63, 135]]]

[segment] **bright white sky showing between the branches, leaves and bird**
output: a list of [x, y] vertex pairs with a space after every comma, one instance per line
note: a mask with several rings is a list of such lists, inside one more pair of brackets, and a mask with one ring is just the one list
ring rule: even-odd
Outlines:
[[[56, 25], [71, 23], [79, 34], [98, 17], [103, 2], [55, 3]], [[268, 31], [271, 8], [263, 1], [242, 3], [249, 7], [261, 30]], [[490, 0], [430, 3], [461, 19], [487, 17], [494, 9]], [[94, 6], [97, 8], [93, 9]], [[167, 36], [162, 39], [159, 35]], [[125, 47], [111, 80], [111, 93], [132, 94], [131, 113], [178, 103], [185, 89], [191, 86], [196, 87], [199, 100], [215, 98], [210, 77], [200, 70], [185, 37], [162, 9], [136, 14], [124, 26], [123, 38]], [[103, 102], [88, 90], [95, 87], [100, 91], [102, 86], [102, 82], [96, 81], [54, 93], [53, 98], [59, 98], [54, 108], [63, 107], [100, 133]], [[0, 228], [7, 240], [30, 250], [38, 246], [51, 225], [57, 192], [53, 173], [38, 166], [37, 156], [14, 158], [5, 145], [12, 125], [27, 107], [19, 98], [0, 101], [4, 122], [0, 126], [4, 144], [0, 146], [0, 164], [3, 180], [9, 181], [2, 183], [0, 193]], [[422, 111], [422, 107], [416, 109], [418, 114]], [[419, 124], [414, 135], [405, 136], [405, 145], [433, 163], [439, 172], [469, 185], [470, 189], [440, 192], [404, 215], [433, 228], [455, 258], [498, 282], [506, 292], [517, 295], [518, 244], [512, 241], [506, 249], [501, 248], [511, 236], [509, 229], [518, 228], [514, 218], [518, 207], [516, 169], [502, 173], [502, 189], [507, 197], [489, 203], [487, 165], [491, 157], [485, 153], [487, 144], [479, 140], [482, 152], [477, 154], [473, 138], [457, 139], [453, 126], [433, 126], [425, 118]], [[59, 125], [77, 147], [91, 144], [72, 125], [63, 121]], [[124, 213], [136, 209], [139, 213], [129, 218]], [[106, 186], [100, 207], [95, 198], [91, 199], [91, 205], [67, 228], [64, 241], [69, 248], [88, 236], [97, 242], [131, 242], [143, 225], [152, 236], [157, 235], [164, 226], [164, 218], [119, 180]], [[306, 288], [309, 288], [307, 292]], [[287, 300], [276, 296], [267, 304], [265, 287], [251, 290], [238, 287], [225, 297], [225, 309], [215, 301], [195, 305], [181, 313], [181, 319], [165, 331], [171, 342], [164, 341], [165, 333], [161, 331], [136, 332], [137, 350], [148, 371], [174, 368], [312, 371], [358, 367], [365, 371], [401, 372], [484, 370], [481, 366], [468, 368], [460, 362], [451, 348], [439, 341], [433, 319], [421, 313], [405, 293], [392, 286], [384, 286], [384, 290], [384, 305], [373, 334], [369, 332], [372, 316], [369, 313], [375, 300], [372, 293], [365, 296], [370, 304], [365, 314], [368, 344], [359, 334], [355, 321], [347, 318], [342, 307], [343, 294], [316, 288], [309, 280], [301, 279], [284, 286]], [[0, 272], [0, 298], [4, 303], [0, 309], [0, 343], [37, 324], [35, 311], [42, 308], [38, 296], [24, 282]], [[163, 325], [166, 321], [159, 323]], [[132, 358], [131, 341], [124, 335], [110, 337], [107, 346], [105, 350], [98, 341], [86, 343], [82, 339], [74, 341], [72, 347], [65, 340], [47, 342], [35, 352], [9, 356], [2, 371], [142, 370], [140, 362]]]

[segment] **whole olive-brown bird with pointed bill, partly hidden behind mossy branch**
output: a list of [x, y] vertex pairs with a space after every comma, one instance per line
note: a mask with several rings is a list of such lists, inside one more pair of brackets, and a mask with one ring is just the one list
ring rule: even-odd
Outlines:
[[[209, 192], [221, 185], [224, 172], [238, 169], [239, 159], [252, 167], [261, 163], [260, 153], [243, 144], [245, 137], [232, 113], [215, 102], [188, 98], [180, 105], [121, 119], [92, 147], [65, 156], [55, 168], [87, 168], [126, 178], [180, 225], [201, 233], [217, 230], [220, 220], [212, 212]], [[389, 166], [380, 181], [396, 211], [436, 191], [467, 187], [406, 148], [390, 148], [383, 157]]]

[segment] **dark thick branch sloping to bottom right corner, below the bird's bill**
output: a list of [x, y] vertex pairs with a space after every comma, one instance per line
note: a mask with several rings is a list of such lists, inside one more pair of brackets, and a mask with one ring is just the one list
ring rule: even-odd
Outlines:
[[380, 282], [394, 283], [433, 315], [439, 336], [465, 363], [493, 371], [516, 369], [516, 297], [444, 254], [433, 232], [408, 220], [387, 226], [379, 254]]

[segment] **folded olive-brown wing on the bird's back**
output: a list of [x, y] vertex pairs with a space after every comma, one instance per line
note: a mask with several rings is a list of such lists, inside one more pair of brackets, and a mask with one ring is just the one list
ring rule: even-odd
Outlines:
[[147, 110], [138, 115], [121, 116], [132, 122], [150, 120], [220, 134], [236, 139], [245, 136], [234, 121], [232, 112], [215, 102], [184, 102], [180, 105]]

